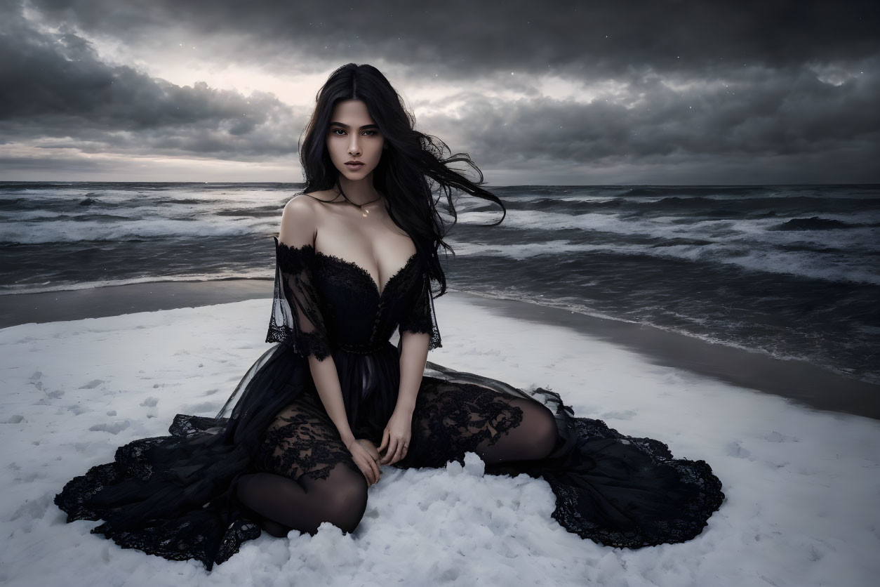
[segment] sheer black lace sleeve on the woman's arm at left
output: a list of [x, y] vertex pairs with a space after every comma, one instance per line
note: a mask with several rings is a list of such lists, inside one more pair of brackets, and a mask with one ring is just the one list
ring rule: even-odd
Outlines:
[[330, 355], [330, 345], [312, 278], [312, 249], [288, 246], [273, 238], [275, 294], [266, 341], [283, 342], [297, 355], [323, 360]]

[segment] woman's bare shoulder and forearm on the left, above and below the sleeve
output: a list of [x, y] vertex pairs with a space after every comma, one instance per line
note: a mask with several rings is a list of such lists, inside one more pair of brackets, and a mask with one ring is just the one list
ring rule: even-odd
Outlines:
[[[294, 196], [284, 206], [281, 216], [281, 230], [279, 240], [287, 246], [314, 246], [317, 233], [317, 218], [313, 208], [312, 198], [307, 196]], [[313, 327], [308, 317], [303, 315], [298, 308], [293, 309], [299, 313], [299, 324], [304, 330]], [[336, 363], [333, 356], [323, 359], [317, 358], [313, 353], [309, 355], [309, 370], [312, 372], [312, 380], [318, 390], [321, 402], [324, 404], [327, 415], [333, 420], [336, 429], [346, 447], [355, 440], [351, 431], [348, 416], [345, 412], [345, 402], [342, 400], [342, 388], [339, 383], [339, 374], [336, 371]]]

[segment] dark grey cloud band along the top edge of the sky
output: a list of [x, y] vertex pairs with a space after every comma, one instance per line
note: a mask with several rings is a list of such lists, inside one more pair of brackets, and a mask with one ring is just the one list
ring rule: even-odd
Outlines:
[[32, 4], [85, 31], [142, 42], [170, 23], [197, 36], [243, 35], [249, 45], [236, 46], [246, 52], [243, 60], [271, 58], [277, 46], [327, 47], [330, 55], [401, 55], [414, 69], [453, 77], [548, 66], [613, 77], [628, 67], [705, 73], [743, 63], [850, 61], [876, 52], [880, 24], [873, 0], [151, 0], [124, 3], [124, 10], [118, 0]]

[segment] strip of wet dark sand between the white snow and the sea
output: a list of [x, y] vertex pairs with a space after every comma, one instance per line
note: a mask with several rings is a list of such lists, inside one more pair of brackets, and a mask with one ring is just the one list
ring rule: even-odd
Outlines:
[[[10, 294], [2, 297], [0, 328], [270, 299], [272, 284], [268, 279], [148, 282], [87, 290]], [[637, 353], [649, 363], [781, 396], [806, 407], [880, 420], [880, 385], [847, 378], [810, 363], [777, 359], [657, 327], [598, 318], [546, 305], [451, 288], [446, 295], [465, 299], [497, 315], [569, 328], [574, 334]], [[268, 312], [267, 306], [267, 319]], [[442, 330], [442, 317], [438, 321]]]

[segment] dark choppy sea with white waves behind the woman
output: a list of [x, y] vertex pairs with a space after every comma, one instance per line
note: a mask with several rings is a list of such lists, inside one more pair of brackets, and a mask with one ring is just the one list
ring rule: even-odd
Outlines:
[[[270, 279], [301, 185], [0, 182], [0, 294]], [[654, 325], [880, 383], [880, 186], [490, 187], [448, 285]], [[271, 286], [267, 284], [267, 295]], [[0, 297], [2, 300], [2, 297]], [[442, 318], [441, 318], [442, 319]]]

